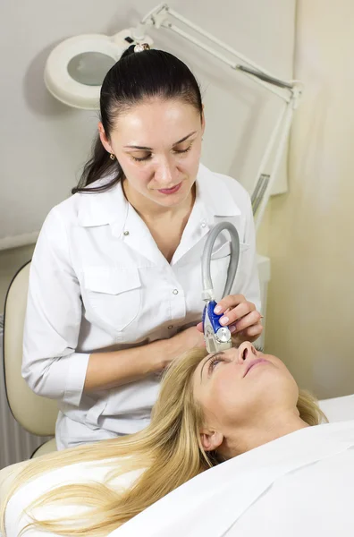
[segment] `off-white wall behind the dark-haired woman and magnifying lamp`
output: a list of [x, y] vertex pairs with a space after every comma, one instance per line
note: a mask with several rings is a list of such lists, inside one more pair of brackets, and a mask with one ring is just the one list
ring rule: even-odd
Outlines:
[[[157, 3], [0, 3], [0, 249], [35, 240], [48, 210], [76, 183], [96, 131], [96, 113], [65, 107], [46, 91], [43, 72], [50, 50], [72, 35], [130, 27]], [[279, 77], [291, 77], [295, 0], [170, 4]], [[154, 37], [156, 47], [187, 60], [202, 81], [206, 165], [231, 173], [250, 190], [279, 102], [181, 38], [166, 38], [165, 30]], [[283, 171], [280, 190], [284, 179]]]

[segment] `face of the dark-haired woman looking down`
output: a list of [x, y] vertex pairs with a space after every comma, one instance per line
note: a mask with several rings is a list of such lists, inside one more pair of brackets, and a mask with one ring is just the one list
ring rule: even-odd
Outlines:
[[[166, 208], [186, 200], [196, 180], [204, 120], [181, 100], [149, 99], [119, 115], [105, 149], [126, 177], [125, 189]], [[127, 190], [128, 189], [128, 190]]]

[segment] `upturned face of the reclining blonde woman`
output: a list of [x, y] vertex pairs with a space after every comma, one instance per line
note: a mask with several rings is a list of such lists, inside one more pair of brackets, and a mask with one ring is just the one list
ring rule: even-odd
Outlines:
[[193, 396], [206, 429], [227, 438], [230, 431], [257, 427], [266, 417], [272, 422], [283, 410], [296, 410], [299, 389], [281, 360], [245, 342], [238, 349], [209, 354], [198, 364]]

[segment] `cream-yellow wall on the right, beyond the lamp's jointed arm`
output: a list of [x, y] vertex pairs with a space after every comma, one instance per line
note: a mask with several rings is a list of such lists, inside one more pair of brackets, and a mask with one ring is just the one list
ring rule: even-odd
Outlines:
[[354, 3], [299, 0], [305, 84], [289, 193], [271, 202], [266, 343], [318, 396], [354, 391]]

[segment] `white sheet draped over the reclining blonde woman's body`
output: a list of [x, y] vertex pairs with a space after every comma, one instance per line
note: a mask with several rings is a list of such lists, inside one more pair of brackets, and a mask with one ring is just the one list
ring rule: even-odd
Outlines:
[[110, 535], [351, 537], [353, 447], [354, 422], [299, 430], [198, 475]]

